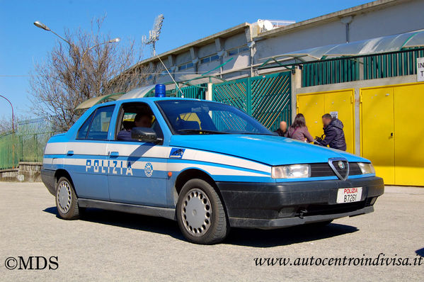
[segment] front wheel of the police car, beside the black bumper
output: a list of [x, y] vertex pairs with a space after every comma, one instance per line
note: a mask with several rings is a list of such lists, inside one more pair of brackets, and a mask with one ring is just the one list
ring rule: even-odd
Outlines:
[[216, 244], [229, 233], [229, 221], [217, 191], [207, 181], [191, 179], [179, 193], [177, 221], [188, 241]]

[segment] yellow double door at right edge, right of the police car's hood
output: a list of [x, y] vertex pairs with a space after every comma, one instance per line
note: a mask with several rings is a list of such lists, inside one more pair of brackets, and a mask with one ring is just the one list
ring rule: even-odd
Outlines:
[[424, 84], [361, 89], [361, 155], [385, 184], [424, 186]]

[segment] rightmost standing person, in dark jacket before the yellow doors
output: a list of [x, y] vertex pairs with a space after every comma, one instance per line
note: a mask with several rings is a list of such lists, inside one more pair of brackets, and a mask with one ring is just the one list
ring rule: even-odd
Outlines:
[[345, 132], [343, 132], [343, 123], [338, 118], [333, 118], [329, 113], [322, 116], [324, 125], [324, 134], [326, 137], [323, 140], [316, 140], [321, 146], [329, 146], [337, 150], [346, 150]]

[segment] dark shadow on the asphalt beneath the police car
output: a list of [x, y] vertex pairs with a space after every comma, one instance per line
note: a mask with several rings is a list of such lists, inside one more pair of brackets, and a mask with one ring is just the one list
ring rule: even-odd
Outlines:
[[[56, 217], [59, 218], [56, 207], [46, 208], [43, 211], [56, 215]], [[186, 241], [178, 228], [178, 224], [166, 218], [87, 208], [81, 220], [146, 232], [155, 232]], [[227, 237], [222, 244], [261, 248], [276, 247], [302, 242], [314, 242], [319, 239], [346, 235], [357, 231], [357, 227], [338, 223], [331, 223], [330, 225], [322, 227], [303, 225], [274, 230], [232, 228], [229, 237]]]

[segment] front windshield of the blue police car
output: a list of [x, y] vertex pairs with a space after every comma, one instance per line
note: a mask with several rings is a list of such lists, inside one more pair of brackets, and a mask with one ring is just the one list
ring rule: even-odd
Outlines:
[[222, 103], [193, 100], [157, 101], [173, 134], [273, 135], [243, 111]]

